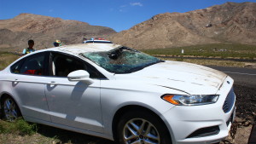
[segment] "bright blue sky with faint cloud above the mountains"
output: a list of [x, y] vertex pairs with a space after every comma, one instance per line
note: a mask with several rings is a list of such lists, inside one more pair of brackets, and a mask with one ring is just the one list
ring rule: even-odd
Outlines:
[[184, 13], [226, 2], [256, 3], [256, 0], [0, 0], [0, 20], [12, 19], [21, 13], [41, 14], [108, 26], [120, 32], [155, 14]]

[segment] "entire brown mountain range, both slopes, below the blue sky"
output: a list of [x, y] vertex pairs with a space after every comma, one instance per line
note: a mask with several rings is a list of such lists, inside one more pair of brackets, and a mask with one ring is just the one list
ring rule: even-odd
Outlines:
[[24, 49], [27, 40], [35, 48], [53, 47], [55, 39], [65, 44], [82, 43], [84, 37], [105, 37], [135, 49], [159, 49], [208, 43], [256, 45], [256, 3], [224, 3], [186, 13], [156, 14], [131, 29], [115, 32], [105, 26], [90, 26], [78, 20], [62, 20], [38, 14], [19, 14], [0, 20], [0, 49]]

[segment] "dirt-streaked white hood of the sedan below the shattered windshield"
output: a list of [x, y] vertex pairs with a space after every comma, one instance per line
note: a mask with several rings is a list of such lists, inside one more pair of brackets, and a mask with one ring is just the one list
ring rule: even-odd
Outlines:
[[206, 66], [168, 60], [129, 75], [131, 78], [143, 78], [147, 84], [178, 89], [190, 95], [213, 95], [227, 77], [223, 72]]

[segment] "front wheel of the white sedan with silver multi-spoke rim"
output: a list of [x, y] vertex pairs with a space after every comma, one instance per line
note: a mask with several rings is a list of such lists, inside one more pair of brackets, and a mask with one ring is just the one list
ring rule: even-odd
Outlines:
[[125, 113], [116, 131], [120, 144], [172, 144], [166, 125], [158, 116], [147, 111]]

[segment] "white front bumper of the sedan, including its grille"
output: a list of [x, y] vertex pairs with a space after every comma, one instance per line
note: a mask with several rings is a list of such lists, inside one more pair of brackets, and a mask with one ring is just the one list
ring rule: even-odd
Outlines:
[[[227, 81], [229, 83], [226, 83]], [[232, 84], [231, 78], [225, 79], [217, 92], [218, 101], [214, 104], [179, 106], [165, 112], [163, 119], [166, 120], [166, 125], [172, 135], [172, 143], [214, 143], [228, 136], [236, 113], [236, 95]], [[227, 102], [228, 109], [225, 107]]]

